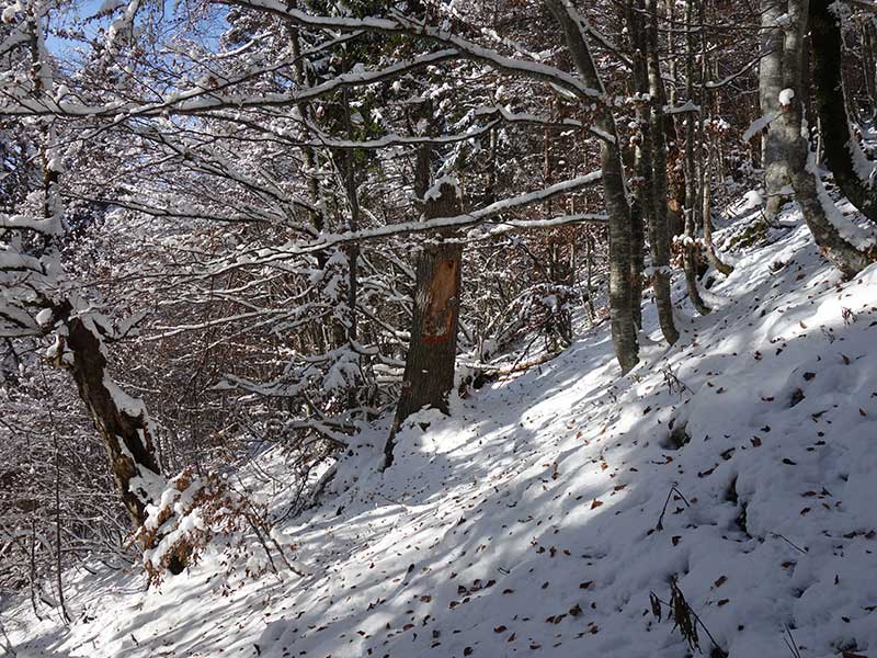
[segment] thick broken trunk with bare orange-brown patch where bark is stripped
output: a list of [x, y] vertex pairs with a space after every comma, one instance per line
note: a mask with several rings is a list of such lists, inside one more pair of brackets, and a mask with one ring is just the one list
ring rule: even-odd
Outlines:
[[[428, 192], [424, 201], [425, 219], [460, 213], [459, 194], [451, 182], [442, 181], [436, 194]], [[409, 416], [425, 406], [448, 411], [457, 356], [462, 260], [463, 246], [443, 241], [424, 246], [418, 258], [411, 342], [396, 418], [384, 447], [385, 468], [392, 465], [396, 434]]]

